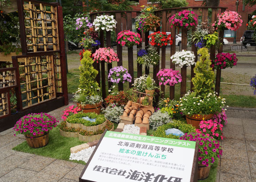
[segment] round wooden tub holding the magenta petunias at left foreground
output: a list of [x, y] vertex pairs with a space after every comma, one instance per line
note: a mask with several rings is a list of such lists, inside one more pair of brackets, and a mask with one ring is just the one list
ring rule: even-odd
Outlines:
[[43, 134], [36, 135], [36, 136], [25, 135], [25, 137], [26, 137], [27, 144], [28, 144], [29, 147], [40, 148], [40, 147], [44, 147], [48, 144], [48, 142], [49, 142], [49, 131], [44, 132]]

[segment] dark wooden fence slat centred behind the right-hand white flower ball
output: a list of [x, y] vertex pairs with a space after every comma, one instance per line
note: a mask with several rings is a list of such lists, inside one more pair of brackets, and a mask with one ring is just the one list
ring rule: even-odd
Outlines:
[[[187, 51], [187, 29], [181, 29], [181, 49]], [[186, 94], [187, 91], [187, 66], [181, 68], [181, 96]]]

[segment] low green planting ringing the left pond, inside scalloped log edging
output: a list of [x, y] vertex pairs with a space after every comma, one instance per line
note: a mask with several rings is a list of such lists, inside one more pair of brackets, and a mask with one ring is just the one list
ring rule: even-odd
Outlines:
[[[96, 119], [95, 122], [91, 122], [91, 121], [87, 121], [85, 119], [83, 119], [82, 117], [89, 117], [90, 119]], [[72, 116], [69, 116], [66, 119], [67, 122], [69, 123], [81, 123], [84, 126], [96, 126], [96, 125], [100, 125], [103, 122], [106, 121], [106, 118], [104, 115], [102, 114], [96, 114], [95, 112], [88, 112], [88, 113], [77, 113], [77, 114], [73, 114]]]

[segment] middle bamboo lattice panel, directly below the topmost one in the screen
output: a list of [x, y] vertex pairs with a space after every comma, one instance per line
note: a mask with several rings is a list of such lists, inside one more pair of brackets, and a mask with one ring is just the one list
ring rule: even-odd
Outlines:
[[[24, 58], [24, 64], [19, 65], [19, 69], [23, 70], [23, 73], [20, 72], [20, 80], [26, 80], [24, 83], [21, 83], [21, 87], [23, 87], [23, 85], [25, 87], [25, 90], [21, 91], [21, 94], [25, 93], [27, 96], [26, 99], [22, 99], [22, 103], [25, 103], [25, 107], [32, 106], [33, 99], [37, 99], [37, 103], [39, 104], [45, 100], [56, 98], [53, 68], [53, 54], [27, 56]], [[47, 77], [44, 78], [43, 75]], [[33, 77], [34, 80], [32, 80]], [[48, 81], [46, 86], [43, 86], [44, 80]], [[45, 98], [45, 96], [47, 98]]]

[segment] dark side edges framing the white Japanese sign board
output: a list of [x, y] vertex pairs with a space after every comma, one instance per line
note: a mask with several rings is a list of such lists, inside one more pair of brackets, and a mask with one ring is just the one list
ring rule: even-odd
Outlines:
[[[91, 157], [89, 158], [88, 162], [85, 165], [85, 168], [83, 169], [83, 171], [81, 172], [80, 176], [79, 176], [79, 182], [96, 182], [96, 181], [91, 181], [91, 180], [86, 180], [86, 179], [82, 179], [85, 170], [87, 169], [87, 167], [89, 166], [96, 150], [98, 149], [99, 145], [101, 144], [101, 141], [103, 139], [103, 137], [105, 136], [107, 132], [107, 129], [103, 132], [101, 139], [99, 140], [97, 146], [95, 147], [94, 151], [91, 154]], [[194, 152], [194, 158], [193, 158], [193, 163], [192, 163], [192, 171], [191, 171], [191, 177], [190, 177], [190, 182], [197, 182], [197, 171], [198, 171], [198, 147], [199, 147], [199, 142], [196, 142], [196, 146], [195, 146], [195, 152]]]

